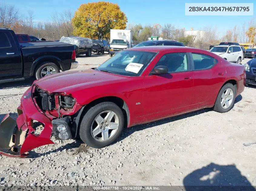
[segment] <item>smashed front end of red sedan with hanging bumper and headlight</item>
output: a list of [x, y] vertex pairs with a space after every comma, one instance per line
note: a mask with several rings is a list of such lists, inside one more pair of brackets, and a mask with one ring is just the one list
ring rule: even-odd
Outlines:
[[[9, 157], [28, 156], [28, 151], [48, 144], [55, 138], [75, 138], [82, 106], [67, 93], [47, 92], [33, 84], [23, 94], [16, 121], [6, 114], [0, 124], [0, 154]], [[37, 132], [34, 122], [42, 123]]]

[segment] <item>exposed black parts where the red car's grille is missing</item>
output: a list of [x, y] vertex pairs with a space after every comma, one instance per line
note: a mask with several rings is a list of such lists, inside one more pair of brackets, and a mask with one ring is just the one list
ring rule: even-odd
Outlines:
[[48, 94], [44, 90], [36, 87], [33, 97], [41, 110], [53, 110], [55, 108], [54, 94]]

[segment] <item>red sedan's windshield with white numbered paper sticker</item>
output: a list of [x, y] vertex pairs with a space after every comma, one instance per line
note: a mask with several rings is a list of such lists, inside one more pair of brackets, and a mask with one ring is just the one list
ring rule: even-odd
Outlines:
[[101, 64], [96, 70], [125, 75], [139, 76], [156, 53], [124, 50]]

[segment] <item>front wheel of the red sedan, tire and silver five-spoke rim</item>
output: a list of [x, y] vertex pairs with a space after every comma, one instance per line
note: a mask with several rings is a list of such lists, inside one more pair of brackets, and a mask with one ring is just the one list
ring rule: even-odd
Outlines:
[[113, 143], [124, 128], [124, 114], [112, 102], [91, 107], [80, 124], [80, 138], [93, 148], [103, 148]]

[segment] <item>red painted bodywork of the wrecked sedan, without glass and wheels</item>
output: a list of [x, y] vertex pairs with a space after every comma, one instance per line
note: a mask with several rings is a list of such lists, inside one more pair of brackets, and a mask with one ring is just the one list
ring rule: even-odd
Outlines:
[[[82, 71], [62, 72], [50, 75], [35, 81], [36, 86], [50, 92], [73, 96], [76, 99], [72, 111], [61, 110], [62, 114], [72, 115], [82, 106], [91, 101], [115, 96], [123, 99], [128, 106], [130, 120], [128, 127], [136, 124], [148, 123], [158, 119], [213, 107], [218, 92], [228, 80], [237, 81], [237, 94], [244, 90], [245, 71], [242, 65], [231, 64], [225, 59], [211, 52], [189, 47], [177, 46], [145, 46], [130, 50], [158, 52], [141, 76], [128, 77], [100, 72], [93, 69]], [[151, 75], [158, 60], [167, 53], [192, 52], [214, 57], [217, 64], [211, 69], [197, 70], [165, 75]], [[191, 61], [188, 59], [189, 64]], [[56, 110], [42, 112], [31, 97], [29, 88], [21, 99], [22, 116], [18, 117], [18, 126], [25, 123], [29, 129], [28, 136], [21, 148], [21, 154], [38, 146], [53, 143], [50, 140], [52, 133], [52, 119], [58, 116]], [[136, 103], [140, 104], [136, 104]], [[55, 97], [58, 107], [58, 97]], [[47, 117], [46, 117], [46, 116]], [[23, 120], [22, 120], [23, 119]], [[39, 136], [33, 135], [31, 120], [44, 123], [45, 128]]]

